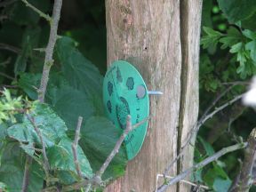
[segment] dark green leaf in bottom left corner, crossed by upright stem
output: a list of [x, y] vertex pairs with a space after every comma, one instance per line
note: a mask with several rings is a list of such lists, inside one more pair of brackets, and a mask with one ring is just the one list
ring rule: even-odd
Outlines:
[[[10, 142], [4, 147], [0, 165], [0, 181], [4, 182], [10, 191], [20, 192], [24, 174], [26, 154], [18, 143]], [[40, 191], [43, 188], [44, 172], [35, 161], [31, 164], [28, 191]]]

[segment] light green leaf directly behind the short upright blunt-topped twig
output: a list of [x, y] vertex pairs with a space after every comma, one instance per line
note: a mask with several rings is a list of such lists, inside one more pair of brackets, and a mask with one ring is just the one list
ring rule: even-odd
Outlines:
[[[58, 145], [53, 146], [47, 150], [47, 156], [49, 158], [49, 163], [51, 169], [72, 172], [76, 175], [76, 165], [74, 163], [74, 156], [72, 152], [72, 141], [68, 138], [63, 138], [60, 140]], [[77, 159], [80, 164], [81, 172], [83, 177], [92, 178], [92, 168], [87, 160], [82, 148], [77, 147]]]

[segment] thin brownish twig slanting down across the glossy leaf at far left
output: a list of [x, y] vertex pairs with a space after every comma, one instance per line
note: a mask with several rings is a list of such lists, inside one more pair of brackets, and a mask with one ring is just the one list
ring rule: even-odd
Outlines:
[[48, 179], [49, 179], [50, 164], [49, 164], [48, 157], [46, 156], [46, 150], [45, 150], [45, 143], [44, 143], [43, 135], [42, 135], [42, 132], [40, 131], [40, 129], [37, 127], [34, 117], [29, 116], [28, 114], [26, 114], [26, 116], [28, 117], [29, 122], [33, 125], [33, 127], [36, 131], [36, 134], [39, 137], [39, 140], [41, 141], [41, 144], [42, 144], [42, 154], [44, 156], [43, 166], [44, 166], [44, 172], [45, 172], [45, 176], [46, 176], [46, 186], [48, 186], [49, 185]]

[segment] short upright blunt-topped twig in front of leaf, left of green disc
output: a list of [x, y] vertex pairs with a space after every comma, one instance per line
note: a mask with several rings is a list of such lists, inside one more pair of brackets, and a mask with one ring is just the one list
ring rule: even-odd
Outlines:
[[80, 129], [81, 129], [82, 122], [83, 122], [83, 117], [79, 116], [78, 121], [77, 121], [77, 126], [76, 126], [76, 135], [75, 135], [74, 142], [72, 144], [72, 151], [73, 151], [73, 156], [74, 156], [74, 163], [76, 165], [76, 172], [77, 172], [77, 175], [81, 179], [83, 178], [83, 176], [82, 176], [80, 164], [79, 164], [79, 161], [78, 161], [78, 158], [77, 158], [77, 145], [78, 145], [78, 141], [80, 139], [79, 135], [80, 135]]

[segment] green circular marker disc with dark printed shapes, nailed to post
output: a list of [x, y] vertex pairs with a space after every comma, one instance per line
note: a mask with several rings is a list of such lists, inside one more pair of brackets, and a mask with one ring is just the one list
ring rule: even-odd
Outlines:
[[[103, 101], [108, 118], [120, 130], [126, 128], [127, 115], [137, 124], [149, 115], [147, 86], [140, 73], [130, 63], [116, 60], [106, 73], [103, 83]], [[136, 156], [145, 139], [148, 121], [130, 132], [124, 139], [127, 157]]]

